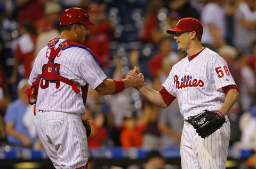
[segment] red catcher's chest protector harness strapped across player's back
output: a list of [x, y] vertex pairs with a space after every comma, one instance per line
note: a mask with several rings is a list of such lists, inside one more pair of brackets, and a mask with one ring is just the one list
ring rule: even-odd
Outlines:
[[[72, 40], [65, 40], [65, 41], [63, 41], [55, 49], [55, 45], [58, 43], [58, 41], [59, 41], [59, 38], [55, 38], [53, 40], [50, 40], [49, 43], [47, 44], [47, 46], [51, 50], [50, 56], [48, 57], [49, 61], [46, 64], [46, 66], [44, 67], [43, 73], [39, 76], [39, 78], [36, 81], [34, 81], [32, 83], [31, 89], [30, 90], [29, 89], [26, 90], [26, 94], [28, 94], [28, 97], [29, 97], [29, 104], [31, 104], [31, 105], [36, 103], [36, 101], [31, 103], [30, 99], [37, 95], [37, 90], [38, 90], [39, 83], [40, 83], [41, 79], [44, 79], [44, 80], [47, 80], [47, 81], [57, 81], [57, 80], [59, 80], [59, 81], [62, 81], [63, 83], [66, 83], [67, 85], [71, 86], [72, 89], [76, 92], [76, 94], [78, 94], [80, 92], [80, 90], [77, 87], [77, 83], [75, 83], [74, 81], [71, 81], [71, 80], [69, 80], [69, 79], [67, 79], [65, 77], [62, 77], [57, 72], [57, 70], [54, 67], [54, 59], [58, 55], [58, 53], [60, 52], [61, 49], [65, 50], [65, 49], [67, 49], [69, 47], [84, 48], [84, 49], [86, 49], [88, 52], [90, 52], [92, 54], [92, 56], [94, 57], [95, 61], [98, 63], [98, 65], [100, 65], [97, 57], [91, 51], [91, 49], [86, 48], [84, 45], [78, 44], [78, 43], [76, 43], [75, 41], [72, 41]], [[84, 104], [86, 103], [88, 88], [89, 88], [88, 84], [86, 84], [85, 86], [81, 87]]]

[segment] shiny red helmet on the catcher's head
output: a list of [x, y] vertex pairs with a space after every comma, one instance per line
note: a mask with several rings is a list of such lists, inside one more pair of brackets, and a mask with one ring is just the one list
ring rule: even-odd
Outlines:
[[95, 26], [95, 24], [89, 20], [89, 14], [85, 10], [78, 7], [71, 7], [70, 9], [63, 11], [60, 15], [60, 26], [73, 23], [82, 23], [88, 26]]

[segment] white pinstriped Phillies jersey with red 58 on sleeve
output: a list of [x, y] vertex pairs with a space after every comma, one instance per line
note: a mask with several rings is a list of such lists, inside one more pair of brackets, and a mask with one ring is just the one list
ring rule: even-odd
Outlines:
[[205, 48], [189, 61], [188, 56], [172, 67], [163, 87], [178, 98], [184, 120], [204, 109], [218, 110], [225, 102], [222, 87], [236, 85], [227, 62]]

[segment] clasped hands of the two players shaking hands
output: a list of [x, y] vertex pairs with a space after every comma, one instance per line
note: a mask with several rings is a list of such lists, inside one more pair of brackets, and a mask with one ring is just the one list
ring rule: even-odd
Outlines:
[[139, 70], [139, 67], [134, 66], [134, 69], [130, 70], [125, 77], [126, 80], [129, 80], [131, 82], [131, 87], [137, 89], [146, 85], [144, 81], [144, 75], [142, 73], [139, 73]]

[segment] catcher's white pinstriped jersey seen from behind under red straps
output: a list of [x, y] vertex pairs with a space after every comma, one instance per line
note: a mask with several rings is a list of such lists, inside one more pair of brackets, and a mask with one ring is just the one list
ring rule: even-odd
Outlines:
[[[64, 39], [59, 39], [55, 49]], [[47, 64], [50, 56], [50, 49], [46, 46], [37, 55], [33, 69], [28, 80], [29, 85], [42, 73], [42, 67]], [[55, 57], [54, 66], [62, 77], [73, 80], [79, 86], [86, 83], [95, 89], [106, 79], [105, 73], [101, 70], [94, 57], [86, 49], [70, 47], [60, 50]], [[85, 107], [82, 92], [76, 94], [71, 86], [63, 82], [47, 82], [41, 79], [37, 95], [36, 109], [41, 111], [56, 111], [84, 114]]]

